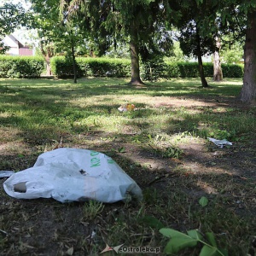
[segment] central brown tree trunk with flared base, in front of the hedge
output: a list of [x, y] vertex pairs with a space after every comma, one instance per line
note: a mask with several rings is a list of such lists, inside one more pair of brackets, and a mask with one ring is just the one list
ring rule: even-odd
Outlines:
[[129, 84], [141, 85], [140, 78], [139, 50], [137, 46], [137, 30], [131, 26], [131, 81]]

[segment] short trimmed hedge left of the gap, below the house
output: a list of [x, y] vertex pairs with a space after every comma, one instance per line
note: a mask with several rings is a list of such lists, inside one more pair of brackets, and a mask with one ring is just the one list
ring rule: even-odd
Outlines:
[[44, 60], [34, 56], [0, 55], [1, 78], [37, 78], [44, 69]]

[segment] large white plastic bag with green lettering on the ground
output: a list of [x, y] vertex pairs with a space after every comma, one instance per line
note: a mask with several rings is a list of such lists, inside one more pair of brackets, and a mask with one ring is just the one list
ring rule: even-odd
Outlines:
[[131, 195], [138, 200], [143, 198], [137, 183], [114, 160], [80, 148], [58, 148], [40, 154], [32, 168], [13, 174], [3, 188], [19, 199], [52, 197], [61, 202], [113, 203]]

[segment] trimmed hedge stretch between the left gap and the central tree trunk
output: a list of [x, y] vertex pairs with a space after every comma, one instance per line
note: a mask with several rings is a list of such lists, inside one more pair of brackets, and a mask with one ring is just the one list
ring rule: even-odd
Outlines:
[[[78, 76], [93, 77], [129, 77], [131, 75], [131, 61], [126, 59], [108, 58], [76, 58]], [[73, 75], [73, 62], [64, 56], [53, 57], [50, 61], [52, 72], [58, 78]]]

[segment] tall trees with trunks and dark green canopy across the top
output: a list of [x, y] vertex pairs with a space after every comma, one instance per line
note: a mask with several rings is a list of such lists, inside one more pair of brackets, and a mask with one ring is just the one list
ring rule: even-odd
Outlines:
[[[19, 23], [38, 31], [41, 53], [49, 67], [53, 55], [101, 56], [129, 44], [130, 84], [143, 84], [140, 64], [160, 62], [173, 54], [173, 38], [183, 54], [195, 56], [201, 84], [207, 87], [202, 55], [213, 56], [213, 79], [223, 78], [221, 52], [228, 46], [244, 48], [244, 76], [240, 100], [256, 99], [256, 3], [247, 0], [29, 0], [26, 12], [5, 5], [0, 15], [0, 36], [14, 29], [5, 21], [15, 15]], [[13, 9], [19, 10], [10, 15]], [[2, 9], [1, 9], [2, 10]], [[7, 19], [8, 20], [8, 19]], [[24, 21], [25, 20], [25, 21]], [[149, 67], [148, 66], [148, 67]], [[50, 72], [50, 70], [49, 70]]]

